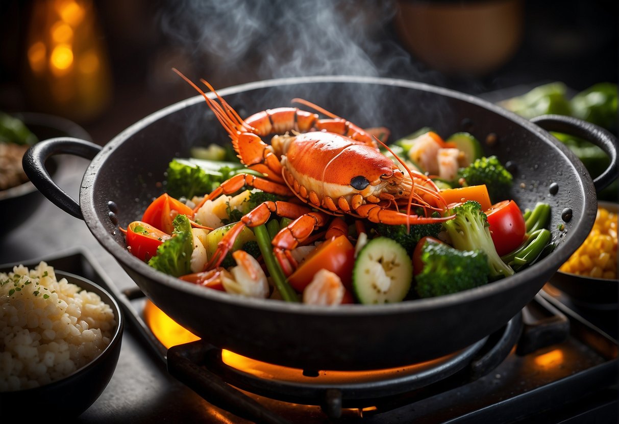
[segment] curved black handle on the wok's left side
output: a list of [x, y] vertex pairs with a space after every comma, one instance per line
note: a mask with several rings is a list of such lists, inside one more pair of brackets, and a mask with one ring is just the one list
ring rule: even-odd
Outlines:
[[54, 205], [68, 214], [84, 219], [79, 203], [58, 187], [45, 167], [45, 161], [54, 155], [75, 155], [93, 159], [102, 147], [95, 143], [72, 137], [58, 137], [43, 140], [31, 146], [22, 159], [24, 171], [30, 182]]

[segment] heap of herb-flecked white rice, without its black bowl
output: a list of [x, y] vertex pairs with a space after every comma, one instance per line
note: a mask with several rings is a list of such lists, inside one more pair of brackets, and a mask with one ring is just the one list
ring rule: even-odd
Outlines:
[[57, 281], [45, 262], [0, 273], [0, 392], [71, 374], [110, 344], [115, 327], [110, 305], [66, 278]]

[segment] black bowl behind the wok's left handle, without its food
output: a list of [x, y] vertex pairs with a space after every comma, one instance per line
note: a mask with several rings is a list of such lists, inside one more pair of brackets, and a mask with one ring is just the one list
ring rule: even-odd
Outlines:
[[[82, 127], [59, 116], [33, 112], [12, 113], [11, 116], [24, 122], [39, 140], [50, 137], [90, 140], [90, 135]], [[61, 167], [61, 161], [58, 158], [50, 158], [49, 166], [51, 174], [55, 176]], [[44, 198], [30, 181], [0, 190], [0, 237], [32, 216]]]

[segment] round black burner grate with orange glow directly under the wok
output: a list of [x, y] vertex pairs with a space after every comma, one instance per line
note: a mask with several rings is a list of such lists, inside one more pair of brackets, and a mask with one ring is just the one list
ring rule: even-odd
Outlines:
[[[329, 417], [337, 418], [343, 407], [371, 407], [377, 399], [411, 392], [458, 373], [458, 381], [476, 379], [504, 360], [521, 331], [522, 315], [518, 313], [492, 337], [484, 337], [453, 354], [405, 367], [370, 371], [282, 367], [196, 341], [168, 350], [168, 371], [189, 386], [197, 374], [210, 379], [209, 384], [210, 377], [216, 375], [236, 388], [271, 399], [320, 405]], [[198, 387], [196, 391], [203, 389]]]

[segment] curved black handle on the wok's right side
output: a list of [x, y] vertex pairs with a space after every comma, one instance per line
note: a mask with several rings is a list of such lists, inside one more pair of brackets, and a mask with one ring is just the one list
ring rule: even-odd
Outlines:
[[617, 138], [607, 130], [591, 122], [563, 115], [542, 115], [530, 120], [547, 131], [575, 135], [598, 146], [610, 157], [610, 164], [602, 174], [593, 180], [595, 191], [607, 187], [619, 175], [617, 166]]

